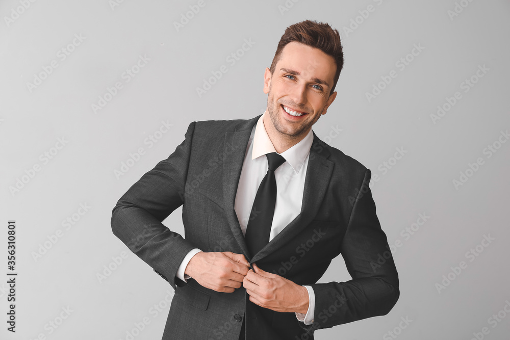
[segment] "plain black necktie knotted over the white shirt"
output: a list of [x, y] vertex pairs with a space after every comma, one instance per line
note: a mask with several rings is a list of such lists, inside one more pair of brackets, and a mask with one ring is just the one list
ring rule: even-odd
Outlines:
[[246, 226], [245, 240], [250, 255], [257, 254], [269, 242], [276, 203], [274, 170], [284, 164], [285, 158], [276, 152], [266, 154], [268, 169], [255, 195], [250, 219]]

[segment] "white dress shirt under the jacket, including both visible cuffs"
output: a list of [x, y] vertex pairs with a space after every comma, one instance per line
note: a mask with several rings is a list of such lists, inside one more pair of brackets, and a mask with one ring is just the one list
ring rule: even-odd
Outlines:
[[[267, 173], [268, 164], [265, 155], [269, 152], [276, 152], [264, 127], [263, 119], [266, 114], [268, 114], [267, 111], [264, 112], [251, 131], [237, 188], [234, 209], [243, 234], [246, 234], [246, 226], [255, 195]], [[277, 194], [269, 241], [274, 239], [301, 212], [304, 180], [307, 174], [312, 143], [313, 133], [310, 129], [308, 135], [299, 143], [280, 153], [286, 162], [274, 171]], [[191, 258], [198, 252], [200, 252], [199, 249], [193, 249], [186, 255], [177, 270], [177, 278], [184, 281], [189, 278], [187, 275], [185, 277], [184, 271]], [[308, 311], [306, 314], [296, 313], [296, 317], [304, 324], [311, 325], [315, 311], [315, 294], [311, 286], [304, 287], [306, 287], [309, 295]]]

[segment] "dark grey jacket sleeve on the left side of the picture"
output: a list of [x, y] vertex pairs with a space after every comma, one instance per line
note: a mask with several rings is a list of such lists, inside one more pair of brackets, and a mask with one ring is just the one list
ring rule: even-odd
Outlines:
[[174, 287], [175, 274], [193, 244], [162, 221], [184, 203], [184, 191], [195, 122], [168, 159], [138, 180], [117, 202], [112, 230], [133, 253]]

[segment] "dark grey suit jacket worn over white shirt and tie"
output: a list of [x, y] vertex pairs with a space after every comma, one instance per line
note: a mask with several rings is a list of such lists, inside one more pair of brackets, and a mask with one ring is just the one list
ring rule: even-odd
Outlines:
[[[185, 141], [113, 210], [114, 234], [175, 289], [164, 340], [237, 340], [243, 318], [247, 339], [313, 339], [320, 328], [386, 315], [398, 299], [397, 271], [368, 186], [370, 170], [315, 133], [301, 213], [249, 258], [234, 202], [259, 117], [191, 123]], [[181, 205], [184, 238], [162, 224]], [[218, 293], [193, 279], [177, 279], [177, 268], [193, 248], [245, 254], [267, 272], [311, 285], [314, 324], [251, 303], [243, 287]], [[339, 254], [352, 279], [317, 284]]]

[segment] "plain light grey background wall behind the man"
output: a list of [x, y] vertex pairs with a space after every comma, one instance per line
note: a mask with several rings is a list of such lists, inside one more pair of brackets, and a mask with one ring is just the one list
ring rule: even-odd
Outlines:
[[[261, 114], [264, 69], [285, 28], [303, 19], [337, 28], [345, 54], [337, 99], [314, 131], [379, 175], [372, 183], [377, 213], [389, 243], [400, 245], [394, 257], [401, 296], [389, 315], [319, 330], [317, 339], [394, 338], [390, 330], [401, 339], [471, 339], [483, 327], [484, 338], [507, 338], [510, 143], [496, 143], [490, 158], [483, 153], [510, 126], [507, 1], [205, 0], [179, 30], [174, 22], [197, 1], [113, 1], [0, 2], [0, 275], [8, 272], [9, 219], [17, 223], [18, 273], [15, 334], [6, 330], [7, 285], [0, 280], [0, 338], [127, 339], [144, 318], [150, 323], [134, 338], [161, 337], [172, 289], [113, 236], [111, 210], [182, 142], [191, 121]], [[373, 11], [363, 12], [369, 5]], [[455, 7], [460, 13], [452, 16]], [[62, 61], [57, 53], [75, 34], [85, 38]], [[244, 39], [254, 44], [232, 65], [226, 58]], [[414, 44], [424, 49], [407, 56]], [[140, 56], [150, 61], [126, 83], [123, 72]], [[406, 56], [413, 60], [401, 70], [396, 62]], [[27, 83], [53, 60], [58, 67], [31, 91]], [[222, 65], [228, 72], [199, 97], [196, 88]], [[489, 70], [464, 92], [462, 83], [479, 66]], [[397, 77], [369, 101], [366, 93], [392, 70]], [[94, 113], [91, 105], [116, 82], [122, 88]], [[462, 98], [434, 123], [431, 115], [457, 91]], [[172, 126], [149, 147], [144, 141], [162, 121]], [[40, 155], [55, 153], [58, 138], [66, 145], [43, 164]], [[144, 154], [116, 176], [139, 148]], [[395, 162], [396, 148], [405, 153]], [[478, 158], [483, 165], [455, 188], [453, 180]], [[27, 181], [36, 164], [40, 171]], [[24, 175], [27, 183], [11, 193]], [[81, 203], [89, 210], [66, 229], [62, 221]], [[404, 237], [419, 214], [429, 218]], [[182, 230], [181, 210], [165, 224]], [[34, 258], [58, 229], [58, 242]], [[466, 256], [489, 235], [494, 240], [478, 246], [478, 256]], [[126, 258], [115, 265], [121, 254]], [[461, 261], [467, 268], [450, 273]], [[106, 276], [108, 266], [115, 270]], [[438, 292], [448, 274], [456, 277]], [[321, 281], [348, 279], [339, 257]], [[57, 329], [48, 326], [67, 307], [68, 318]], [[506, 318], [493, 327], [489, 318], [498, 312]]]

